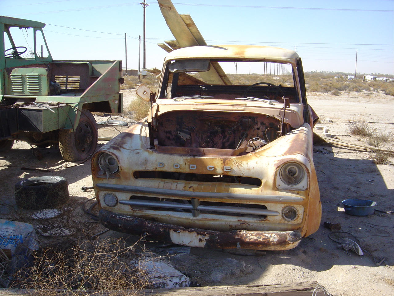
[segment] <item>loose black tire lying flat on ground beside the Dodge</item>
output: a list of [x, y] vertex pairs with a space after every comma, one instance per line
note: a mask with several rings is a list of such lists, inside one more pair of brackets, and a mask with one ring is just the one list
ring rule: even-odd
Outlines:
[[15, 184], [15, 202], [25, 210], [43, 210], [64, 204], [69, 199], [69, 186], [63, 177], [29, 178]]

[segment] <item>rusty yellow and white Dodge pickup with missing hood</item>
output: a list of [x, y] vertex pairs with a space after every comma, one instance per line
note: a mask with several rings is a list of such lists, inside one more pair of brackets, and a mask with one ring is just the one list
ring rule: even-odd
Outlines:
[[[226, 74], [233, 73], [233, 74]], [[314, 233], [321, 202], [316, 114], [301, 58], [252, 45], [170, 52], [147, 118], [93, 155], [108, 229], [218, 249], [286, 250]]]

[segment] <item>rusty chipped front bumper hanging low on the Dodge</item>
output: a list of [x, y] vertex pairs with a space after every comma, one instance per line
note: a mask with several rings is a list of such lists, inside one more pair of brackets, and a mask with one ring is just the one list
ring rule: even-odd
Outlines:
[[280, 251], [296, 247], [301, 242], [301, 232], [232, 230], [219, 232], [154, 222], [138, 217], [113, 213], [104, 209], [99, 219], [106, 228], [128, 234], [149, 234], [158, 240], [190, 247], [213, 249], [256, 249]]

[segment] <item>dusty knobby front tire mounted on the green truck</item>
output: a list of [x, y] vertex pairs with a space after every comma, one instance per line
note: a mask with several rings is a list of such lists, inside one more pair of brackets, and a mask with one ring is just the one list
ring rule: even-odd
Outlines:
[[65, 161], [84, 161], [95, 152], [98, 139], [95, 118], [89, 111], [83, 110], [75, 131], [59, 131], [60, 154]]

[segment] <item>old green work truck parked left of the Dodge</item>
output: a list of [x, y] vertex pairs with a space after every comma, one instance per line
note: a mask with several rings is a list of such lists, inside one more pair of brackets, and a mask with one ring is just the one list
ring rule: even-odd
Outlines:
[[122, 61], [53, 60], [44, 27], [0, 16], [0, 152], [25, 141], [84, 161], [97, 146], [91, 112], [123, 112]]

